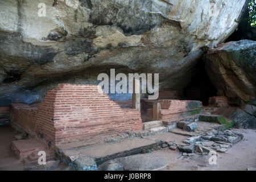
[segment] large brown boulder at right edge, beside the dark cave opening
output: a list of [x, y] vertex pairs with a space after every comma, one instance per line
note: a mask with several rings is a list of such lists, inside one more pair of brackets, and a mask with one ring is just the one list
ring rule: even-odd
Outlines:
[[205, 67], [213, 85], [232, 104], [256, 105], [256, 42], [221, 44], [205, 56]]

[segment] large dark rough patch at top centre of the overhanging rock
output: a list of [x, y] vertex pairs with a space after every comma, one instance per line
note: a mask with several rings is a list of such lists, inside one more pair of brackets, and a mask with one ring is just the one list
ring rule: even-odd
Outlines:
[[[89, 22], [94, 26], [117, 26], [123, 30], [125, 36], [141, 35], [163, 22], [158, 14], [139, 11], [139, 6], [134, 7], [134, 9], [131, 10], [130, 6], [119, 4], [109, 4], [108, 7], [103, 9], [100, 5], [94, 5]], [[131, 11], [137, 12], [137, 9], [137, 14], [130, 13]]]

